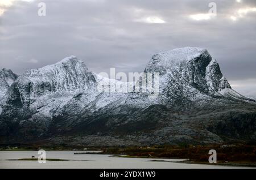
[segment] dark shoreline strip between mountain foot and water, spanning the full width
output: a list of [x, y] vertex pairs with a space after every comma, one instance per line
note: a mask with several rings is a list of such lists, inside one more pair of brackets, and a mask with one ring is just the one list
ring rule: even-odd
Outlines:
[[[256, 167], [256, 145], [213, 144], [213, 145], [152, 145], [147, 147], [66, 147], [66, 146], [0, 146], [3, 151], [73, 151], [73, 155], [109, 155], [110, 157], [176, 159], [187, 164]], [[209, 150], [217, 152], [217, 164], [209, 164]], [[77, 152], [79, 151], [79, 152]], [[158, 160], [160, 161], [160, 160]]]

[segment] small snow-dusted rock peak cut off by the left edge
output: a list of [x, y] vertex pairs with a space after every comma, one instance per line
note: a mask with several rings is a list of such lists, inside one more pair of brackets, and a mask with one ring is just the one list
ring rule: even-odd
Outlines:
[[0, 100], [10, 88], [11, 84], [18, 78], [18, 75], [14, 74], [13, 71], [3, 68], [0, 71]]

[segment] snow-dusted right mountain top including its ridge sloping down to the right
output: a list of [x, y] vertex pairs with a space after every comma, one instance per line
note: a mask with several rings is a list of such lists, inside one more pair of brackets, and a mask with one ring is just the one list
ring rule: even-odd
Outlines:
[[160, 90], [171, 100], [224, 96], [250, 101], [230, 87], [216, 59], [206, 49], [185, 47], [155, 54], [144, 72], [159, 72]]

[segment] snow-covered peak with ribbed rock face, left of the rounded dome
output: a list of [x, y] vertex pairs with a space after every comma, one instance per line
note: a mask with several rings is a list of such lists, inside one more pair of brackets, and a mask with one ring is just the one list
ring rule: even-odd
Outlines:
[[[44, 104], [60, 95], [73, 96], [77, 92], [86, 91], [96, 83], [96, 76], [84, 62], [71, 56], [53, 65], [26, 71], [13, 83], [4, 102], [11, 98], [26, 106], [36, 101]], [[34, 103], [34, 106], [38, 107], [39, 102]]]

